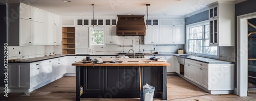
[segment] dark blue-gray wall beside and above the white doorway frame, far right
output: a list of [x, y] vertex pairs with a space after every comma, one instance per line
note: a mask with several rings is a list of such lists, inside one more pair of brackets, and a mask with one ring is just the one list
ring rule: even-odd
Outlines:
[[[235, 6], [235, 19], [236, 19], [236, 36], [235, 36], [235, 40], [237, 42], [237, 16], [240, 16], [240, 15], [244, 15], [244, 14], [248, 14], [248, 13], [253, 13], [253, 12], [256, 12], [256, 1], [255, 0], [247, 0], [245, 2], [242, 2], [242, 3], [239, 3], [239, 4], [236, 4]], [[236, 43], [236, 57], [237, 57], [237, 43]], [[236, 58], [236, 64], [235, 64], [235, 71], [234, 71], [234, 75], [235, 75], [235, 87], [237, 87], [237, 58]]]

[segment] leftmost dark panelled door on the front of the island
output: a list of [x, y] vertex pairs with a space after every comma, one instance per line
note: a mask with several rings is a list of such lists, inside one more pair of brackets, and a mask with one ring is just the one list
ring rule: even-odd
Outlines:
[[87, 66], [84, 70], [84, 92], [104, 92], [104, 67]]

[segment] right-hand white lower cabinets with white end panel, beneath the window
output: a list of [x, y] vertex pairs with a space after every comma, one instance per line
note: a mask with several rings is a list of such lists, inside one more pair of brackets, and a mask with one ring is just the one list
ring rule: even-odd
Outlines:
[[184, 66], [184, 77], [211, 94], [228, 94], [234, 90], [234, 64], [211, 64], [185, 59]]

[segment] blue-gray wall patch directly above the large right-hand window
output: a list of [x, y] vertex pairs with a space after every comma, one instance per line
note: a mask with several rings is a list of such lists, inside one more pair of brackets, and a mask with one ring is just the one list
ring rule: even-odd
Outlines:
[[192, 24], [192, 23], [197, 23], [201, 21], [205, 21], [209, 19], [209, 10], [195, 14], [193, 16], [185, 18], [185, 24]]

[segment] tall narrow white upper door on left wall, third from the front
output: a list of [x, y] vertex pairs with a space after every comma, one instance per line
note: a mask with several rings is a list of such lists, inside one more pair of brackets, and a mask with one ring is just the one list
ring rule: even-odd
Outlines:
[[48, 15], [47, 16], [47, 21], [45, 24], [46, 27], [46, 38], [45, 38], [45, 42], [47, 45], [53, 45], [53, 37], [54, 37], [54, 31], [53, 31], [53, 16]]

